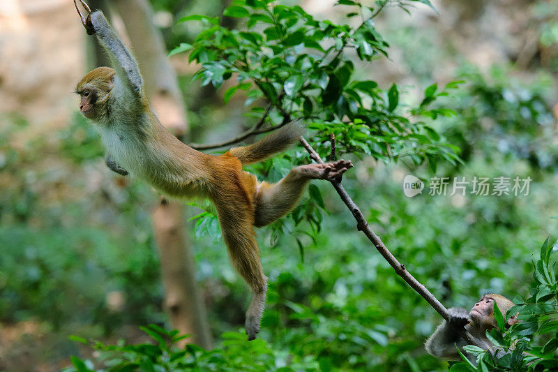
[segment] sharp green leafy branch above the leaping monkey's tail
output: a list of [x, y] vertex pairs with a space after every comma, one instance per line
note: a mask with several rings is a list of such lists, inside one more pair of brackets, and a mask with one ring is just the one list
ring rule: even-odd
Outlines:
[[[182, 43], [170, 54], [189, 51], [188, 59], [202, 68], [195, 74], [202, 85], [219, 88], [227, 80], [236, 81], [223, 94], [228, 103], [235, 94], [246, 94], [245, 105], [257, 122], [241, 135], [216, 144], [193, 144], [196, 149], [213, 149], [250, 135], [272, 131], [291, 119], [305, 119], [316, 134], [312, 143], [325, 144], [335, 133], [340, 153], [352, 152], [382, 161], [405, 156], [415, 164], [437, 158], [455, 163], [457, 148], [428, 126], [426, 120], [453, 111], [432, 108], [439, 96], [455, 83], [425, 89], [417, 107], [402, 112], [396, 84], [382, 89], [374, 80], [356, 78], [354, 64], [345, 58], [347, 50], [361, 61], [373, 63], [388, 55], [388, 43], [375, 29], [374, 18], [390, 4], [407, 8], [428, 0], [380, 0], [375, 6], [339, 0], [349, 11], [347, 17], [361, 15], [356, 27], [316, 20], [300, 6], [273, 5], [262, 0], [234, 0], [224, 15], [239, 18], [246, 30], [220, 27], [216, 17], [189, 15], [179, 22], [199, 21], [206, 25], [192, 44]], [[258, 31], [252, 31], [257, 29]], [[266, 107], [259, 102], [267, 102]], [[326, 147], [317, 147], [319, 152]]]

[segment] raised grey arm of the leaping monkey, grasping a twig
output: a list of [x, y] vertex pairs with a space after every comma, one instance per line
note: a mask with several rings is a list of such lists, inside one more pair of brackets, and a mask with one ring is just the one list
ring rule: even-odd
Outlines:
[[77, 0], [74, 0], [75, 8], [77, 13], [80, 14], [82, 18], [82, 23], [87, 31], [87, 34], [95, 34], [99, 43], [105, 47], [105, 50], [109, 52], [112, 59], [114, 60], [114, 66], [118, 70], [119, 75], [123, 76], [128, 83], [130, 89], [138, 96], [142, 95], [142, 75], [140, 75], [140, 68], [137, 66], [137, 62], [130, 51], [126, 48], [126, 45], [122, 43], [122, 40], [116, 35], [112, 27], [110, 27], [109, 22], [103, 15], [103, 12], [97, 10], [91, 13], [89, 6], [80, 0], [82, 6], [84, 6], [87, 15], [84, 17], [80, 10], [77, 8]]

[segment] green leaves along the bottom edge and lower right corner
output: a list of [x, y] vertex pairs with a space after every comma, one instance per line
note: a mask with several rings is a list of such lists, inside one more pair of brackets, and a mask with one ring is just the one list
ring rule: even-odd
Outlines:
[[[548, 239], [541, 248], [541, 257], [534, 264], [534, 281], [529, 286], [531, 297], [524, 302], [517, 296], [514, 302], [518, 305], [508, 311], [507, 316], [519, 312], [520, 322], [513, 325], [508, 331], [505, 329], [505, 314], [499, 312], [495, 306], [495, 317], [499, 327], [490, 331], [490, 339], [501, 348], [498, 357], [493, 357], [477, 346], [465, 346], [465, 350], [478, 355], [478, 366], [469, 362], [452, 363], [450, 371], [555, 371], [558, 361], [555, 353], [558, 348], [558, 311], [557, 311], [557, 266], [553, 261], [550, 266], [550, 255], [554, 247], [548, 244]], [[289, 303], [294, 310], [292, 319], [316, 320], [320, 323], [320, 315], [315, 314], [310, 308]], [[361, 320], [359, 322], [359, 320]], [[167, 332], [156, 325], [142, 327], [149, 334], [153, 343], [140, 343], [137, 345], [103, 345], [92, 343], [100, 351], [98, 359], [103, 361], [106, 371], [332, 371], [338, 370], [344, 364], [343, 359], [350, 355], [349, 364], [353, 364], [347, 371], [377, 369], [374, 364], [368, 364], [366, 359], [359, 360], [359, 348], [372, 347], [377, 343], [382, 348], [388, 347], [388, 338], [377, 330], [366, 327], [365, 319], [356, 322], [345, 322], [335, 327], [323, 329], [323, 334], [318, 336], [320, 341], [308, 342], [304, 334], [294, 334], [288, 338], [289, 345], [301, 346], [292, 348], [289, 360], [277, 348], [271, 347], [264, 341], [246, 341], [241, 334], [228, 332], [222, 335], [223, 344], [220, 348], [208, 351], [196, 345], [186, 345], [179, 348], [175, 344], [186, 336], [179, 336], [176, 330]], [[351, 338], [354, 348], [324, 348], [324, 342], [331, 345], [331, 334], [340, 328]], [[318, 330], [318, 329], [315, 329]], [[296, 329], [295, 329], [296, 331]], [[542, 334], [548, 340], [543, 347], [533, 346], [531, 341], [534, 334]], [[284, 335], [286, 336], [286, 335]], [[73, 338], [75, 341], [88, 343], [84, 338]], [[306, 341], [306, 342], [301, 342]], [[371, 342], [372, 341], [372, 342]], [[399, 350], [405, 349], [399, 345]], [[352, 361], [350, 360], [352, 359]], [[77, 357], [72, 359], [74, 368], [67, 372], [91, 372], [95, 366], [91, 360], [83, 361]], [[410, 370], [421, 370], [417, 361], [407, 357]], [[368, 364], [368, 365], [367, 365]], [[335, 366], [335, 367], [334, 367]], [[345, 369], [343, 369], [345, 370]], [[386, 369], [389, 370], [389, 369]], [[105, 369], [103, 369], [105, 371]]]

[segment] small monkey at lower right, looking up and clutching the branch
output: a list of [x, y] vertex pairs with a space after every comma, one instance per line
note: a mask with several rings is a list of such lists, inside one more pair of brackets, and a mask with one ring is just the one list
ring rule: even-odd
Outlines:
[[[476, 339], [478, 345], [483, 345], [483, 349], [494, 348], [495, 345], [490, 342], [486, 336], [486, 332], [497, 327], [494, 318], [495, 304], [504, 317], [513, 306], [513, 302], [506, 297], [491, 293], [489, 295], [484, 295], [478, 300], [470, 312], [465, 308], [449, 308], [449, 324], [444, 320], [444, 322], [437, 327], [432, 336], [426, 340], [425, 348], [428, 354], [445, 359], [461, 359], [458, 348], [463, 352], [462, 348], [467, 345], [467, 342], [453, 327], [465, 327], [465, 330]], [[512, 315], [508, 318], [506, 327], [511, 327], [511, 325], [517, 322], [517, 315]], [[476, 356], [474, 355], [467, 355], [467, 358], [473, 363], [476, 362]]]

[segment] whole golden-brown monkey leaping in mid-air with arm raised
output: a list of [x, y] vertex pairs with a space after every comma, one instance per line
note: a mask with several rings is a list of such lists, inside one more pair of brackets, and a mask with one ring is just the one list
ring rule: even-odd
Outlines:
[[267, 290], [254, 227], [285, 216], [296, 206], [310, 179], [336, 179], [352, 168], [352, 163], [340, 160], [301, 165], [277, 184], [259, 182], [254, 175], [243, 172], [242, 165], [262, 161], [296, 142], [301, 135], [297, 125], [284, 126], [255, 144], [230, 149], [220, 156], [188, 147], [151, 112], [137, 62], [103, 13], [91, 13], [80, 0], [86, 10], [84, 16], [76, 0], [74, 3], [87, 34], [96, 35], [116, 68], [96, 68], [76, 87], [82, 114], [100, 132], [107, 166], [119, 174], [129, 172], [170, 196], [213, 201], [232, 265], [252, 288], [246, 333], [249, 340], [254, 339]]

